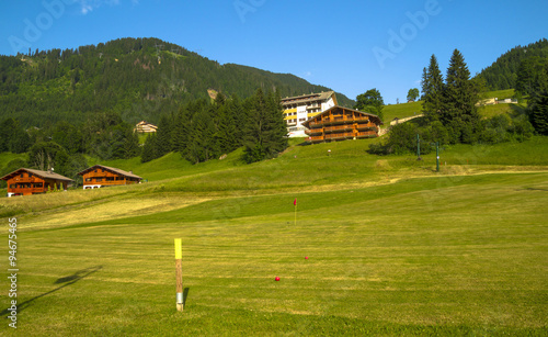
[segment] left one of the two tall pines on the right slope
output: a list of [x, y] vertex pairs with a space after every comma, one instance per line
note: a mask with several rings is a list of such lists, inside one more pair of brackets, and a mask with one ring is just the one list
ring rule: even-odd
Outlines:
[[422, 74], [422, 111], [431, 122], [439, 119], [439, 112], [443, 109], [443, 89], [442, 71], [439, 71], [436, 56], [432, 55], [429, 68], [424, 68]]

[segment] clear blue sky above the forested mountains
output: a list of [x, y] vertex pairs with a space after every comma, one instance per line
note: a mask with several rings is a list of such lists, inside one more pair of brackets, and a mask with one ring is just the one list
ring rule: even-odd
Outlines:
[[421, 88], [435, 55], [459, 49], [473, 76], [548, 37], [548, 1], [19, 0], [0, 3], [0, 55], [158, 37], [220, 64], [293, 74], [385, 103]]

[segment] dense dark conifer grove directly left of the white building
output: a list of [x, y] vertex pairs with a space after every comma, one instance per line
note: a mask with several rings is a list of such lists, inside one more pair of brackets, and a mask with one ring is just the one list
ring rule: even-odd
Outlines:
[[283, 151], [286, 135], [277, 92], [258, 89], [246, 100], [219, 93], [214, 102], [197, 100], [181, 106], [176, 114], [163, 115], [158, 132], [147, 137], [141, 161], [175, 151], [196, 164], [243, 146], [243, 160], [254, 162]]

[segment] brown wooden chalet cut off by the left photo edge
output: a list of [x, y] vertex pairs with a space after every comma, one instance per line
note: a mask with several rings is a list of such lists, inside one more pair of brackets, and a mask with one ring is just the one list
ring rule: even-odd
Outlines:
[[8, 196], [31, 195], [47, 191], [67, 190], [73, 181], [70, 178], [55, 173], [53, 170], [41, 171], [20, 168], [2, 178], [8, 182]]

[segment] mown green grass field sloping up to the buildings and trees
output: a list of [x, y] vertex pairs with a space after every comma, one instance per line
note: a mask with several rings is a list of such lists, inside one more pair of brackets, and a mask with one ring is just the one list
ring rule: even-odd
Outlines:
[[377, 139], [293, 142], [253, 165], [109, 161], [149, 182], [0, 199], [16, 335], [548, 334], [546, 137], [446, 147], [441, 172], [368, 155]]

